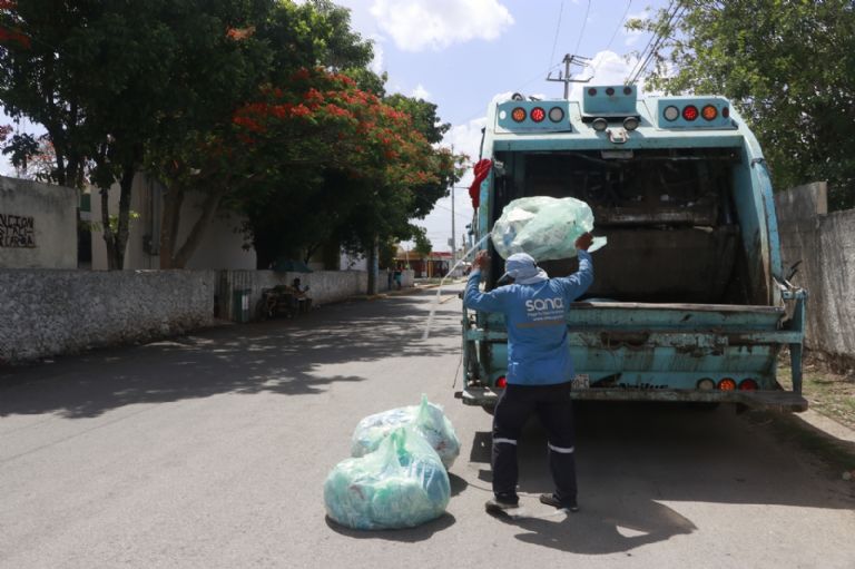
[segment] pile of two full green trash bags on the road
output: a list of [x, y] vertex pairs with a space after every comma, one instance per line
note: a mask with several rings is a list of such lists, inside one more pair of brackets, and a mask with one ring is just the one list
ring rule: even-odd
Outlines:
[[460, 454], [460, 441], [426, 396], [421, 405], [360, 421], [352, 454], [324, 482], [332, 520], [361, 530], [413, 528], [445, 511], [451, 499], [446, 468]]

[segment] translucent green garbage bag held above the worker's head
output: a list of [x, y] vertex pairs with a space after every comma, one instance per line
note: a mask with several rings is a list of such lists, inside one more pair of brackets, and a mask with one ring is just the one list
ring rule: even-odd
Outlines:
[[[497, 253], [508, 258], [528, 253], [534, 261], [576, 256], [576, 239], [593, 230], [593, 212], [573, 197], [533, 196], [514, 199], [502, 209], [491, 237]], [[606, 237], [594, 237], [588, 249], [606, 245]]]

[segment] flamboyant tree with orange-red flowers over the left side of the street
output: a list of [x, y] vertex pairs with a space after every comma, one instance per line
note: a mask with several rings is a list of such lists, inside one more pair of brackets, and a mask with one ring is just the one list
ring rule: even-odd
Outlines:
[[[451, 154], [409, 114], [323, 68], [263, 86], [229, 125], [190, 148], [167, 165], [171, 199], [180, 199], [178, 188], [204, 190], [200, 220], [224, 202], [246, 212], [262, 267], [279, 255], [305, 258], [331, 239], [365, 251], [374, 238], [407, 238], [410, 217], [430, 210], [424, 204], [454, 176]], [[167, 203], [173, 214], [179, 207]], [[200, 234], [178, 246], [176, 227], [164, 232], [161, 266], [181, 266]]]

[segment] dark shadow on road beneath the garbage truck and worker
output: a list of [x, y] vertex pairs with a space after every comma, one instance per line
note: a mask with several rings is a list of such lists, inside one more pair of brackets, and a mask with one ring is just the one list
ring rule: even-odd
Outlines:
[[[772, 425], [731, 408], [678, 404], [576, 405], [581, 511], [553, 511], [538, 496], [552, 491], [547, 436], [529, 423], [519, 445], [523, 513], [501, 521], [520, 541], [582, 555], [627, 552], [697, 531], [678, 503], [776, 504], [852, 509], [853, 485], [829, 475], [816, 489], [815, 457], [776, 439]], [[490, 433], [476, 432], [470, 461], [492, 480]]]

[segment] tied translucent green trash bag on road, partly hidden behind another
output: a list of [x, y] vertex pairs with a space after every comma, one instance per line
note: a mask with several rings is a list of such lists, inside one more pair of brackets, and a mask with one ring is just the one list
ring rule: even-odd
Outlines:
[[454, 426], [440, 405], [428, 401], [422, 394], [419, 405], [392, 409], [368, 415], [358, 422], [353, 431], [352, 457], [373, 452], [389, 433], [399, 426], [412, 426], [433, 447], [445, 469], [450, 469], [460, 454], [460, 440]]

